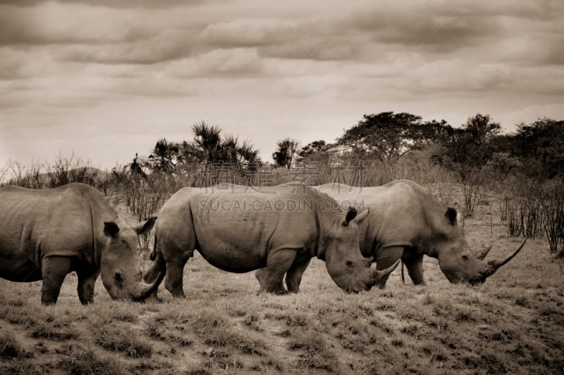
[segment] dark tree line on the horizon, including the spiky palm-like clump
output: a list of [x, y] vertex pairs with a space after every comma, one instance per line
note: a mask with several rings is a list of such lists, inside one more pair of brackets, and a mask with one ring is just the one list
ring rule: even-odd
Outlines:
[[[182, 175], [192, 172], [195, 164], [200, 171], [214, 165], [243, 171], [269, 164], [259, 158], [259, 150], [248, 139], [224, 134], [218, 125], [197, 122], [191, 131], [190, 141], [159, 139], [147, 157], [133, 160], [131, 170]], [[332, 143], [319, 139], [301, 146], [296, 139], [281, 139], [272, 160], [274, 166], [286, 168], [309, 161], [390, 164], [415, 151], [425, 151], [432, 163], [461, 179], [482, 168], [502, 177], [518, 173], [552, 179], [564, 174], [564, 121], [543, 118], [502, 134], [501, 125], [481, 113], [453, 127], [445, 120], [423, 121], [411, 113], [381, 112], [363, 115]]]

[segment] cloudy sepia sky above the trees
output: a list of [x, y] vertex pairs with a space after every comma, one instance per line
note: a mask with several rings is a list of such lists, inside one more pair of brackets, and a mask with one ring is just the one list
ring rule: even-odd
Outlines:
[[382, 111], [564, 120], [564, 1], [0, 0], [0, 168], [111, 168], [202, 120], [272, 161]]

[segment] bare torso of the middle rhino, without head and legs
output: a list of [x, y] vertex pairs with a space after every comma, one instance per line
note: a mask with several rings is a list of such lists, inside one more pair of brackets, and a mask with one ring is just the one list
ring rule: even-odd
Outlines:
[[297, 207], [288, 210], [296, 200], [290, 189], [275, 186], [264, 193], [232, 187], [184, 188], [173, 194], [159, 212], [159, 243], [173, 243], [188, 257], [196, 248], [212, 265], [230, 272], [264, 267], [272, 249], [315, 253], [315, 214]]

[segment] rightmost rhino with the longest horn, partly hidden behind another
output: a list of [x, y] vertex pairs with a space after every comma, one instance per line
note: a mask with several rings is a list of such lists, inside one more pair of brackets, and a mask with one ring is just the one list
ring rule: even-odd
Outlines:
[[[369, 216], [359, 224], [362, 255], [374, 257], [376, 269], [403, 260], [414, 284], [424, 283], [423, 255], [437, 258], [450, 282], [479, 284], [517, 255], [527, 241], [505, 260], [486, 263], [482, 260], [489, 249], [478, 256], [470, 252], [464, 231], [456, 225], [456, 210], [415, 182], [398, 180], [363, 188], [325, 184], [316, 189], [329, 194], [343, 207], [369, 208]], [[300, 269], [304, 271], [305, 267]], [[388, 275], [378, 286], [384, 288], [387, 279]]]

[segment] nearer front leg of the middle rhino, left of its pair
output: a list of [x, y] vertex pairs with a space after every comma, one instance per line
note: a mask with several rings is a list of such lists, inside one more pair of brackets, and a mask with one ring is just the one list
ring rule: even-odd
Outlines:
[[295, 249], [281, 249], [271, 251], [266, 260], [266, 267], [259, 273], [259, 293], [288, 293], [282, 285], [284, 274], [290, 269], [295, 260]]

